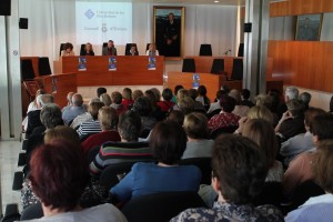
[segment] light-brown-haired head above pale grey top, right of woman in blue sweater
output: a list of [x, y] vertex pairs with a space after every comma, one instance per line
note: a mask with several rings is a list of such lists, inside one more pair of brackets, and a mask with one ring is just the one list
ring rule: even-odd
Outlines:
[[208, 118], [200, 112], [192, 112], [185, 115], [183, 129], [191, 139], [208, 138]]

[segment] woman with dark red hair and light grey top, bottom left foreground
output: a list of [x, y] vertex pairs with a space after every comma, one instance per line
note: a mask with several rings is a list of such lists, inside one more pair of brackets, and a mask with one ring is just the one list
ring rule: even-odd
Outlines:
[[88, 164], [79, 145], [64, 140], [44, 144], [36, 150], [30, 164], [29, 179], [44, 214], [32, 221], [127, 221], [111, 204], [89, 209], [79, 205], [89, 182]]

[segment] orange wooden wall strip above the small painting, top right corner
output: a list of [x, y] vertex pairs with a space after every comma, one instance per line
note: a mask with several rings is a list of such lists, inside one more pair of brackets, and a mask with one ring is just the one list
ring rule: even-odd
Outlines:
[[289, 0], [270, 4], [270, 17], [332, 12], [332, 0]]

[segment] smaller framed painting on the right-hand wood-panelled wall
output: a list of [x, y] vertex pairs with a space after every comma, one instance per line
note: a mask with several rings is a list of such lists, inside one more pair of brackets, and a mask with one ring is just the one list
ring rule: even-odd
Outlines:
[[322, 26], [322, 14], [297, 16], [296, 41], [319, 41]]

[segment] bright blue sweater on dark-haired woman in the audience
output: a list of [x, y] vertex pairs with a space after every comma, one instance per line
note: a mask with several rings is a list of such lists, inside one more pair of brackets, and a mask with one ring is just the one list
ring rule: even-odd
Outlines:
[[125, 202], [158, 192], [196, 192], [200, 180], [201, 171], [195, 165], [160, 167], [154, 163], [135, 163], [131, 172], [110, 192], [119, 202]]

